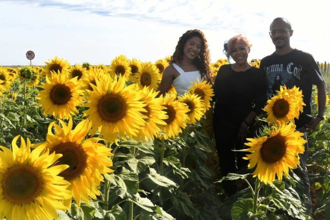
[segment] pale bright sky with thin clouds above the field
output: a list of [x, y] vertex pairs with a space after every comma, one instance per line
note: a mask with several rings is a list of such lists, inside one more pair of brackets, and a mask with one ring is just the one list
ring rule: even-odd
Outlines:
[[110, 65], [120, 54], [141, 61], [172, 55], [189, 29], [204, 32], [212, 62], [236, 34], [252, 41], [249, 59], [274, 51], [268, 31], [276, 17], [294, 30], [291, 45], [330, 61], [330, 12], [323, 0], [0, 0], [0, 65], [32, 65], [58, 56], [71, 65]]

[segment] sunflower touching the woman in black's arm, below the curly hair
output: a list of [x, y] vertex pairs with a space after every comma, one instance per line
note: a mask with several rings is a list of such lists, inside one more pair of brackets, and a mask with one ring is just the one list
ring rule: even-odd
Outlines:
[[197, 94], [201, 100], [204, 101], [205, 110], [211, 108], [210, 101], [212, 101], [212, 96], [214, 96], [212, 85], [202, 80], [201, 82], [192, 82], [193, 86], [189, 88], [191, 93]]

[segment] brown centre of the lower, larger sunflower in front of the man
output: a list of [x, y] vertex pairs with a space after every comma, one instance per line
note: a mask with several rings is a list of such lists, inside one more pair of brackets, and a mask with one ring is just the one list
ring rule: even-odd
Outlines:
[[280, 134], [269, 137], [260, 149], [261, 158], [271, 164], [279, 161], [286, 154], [286, 139]]

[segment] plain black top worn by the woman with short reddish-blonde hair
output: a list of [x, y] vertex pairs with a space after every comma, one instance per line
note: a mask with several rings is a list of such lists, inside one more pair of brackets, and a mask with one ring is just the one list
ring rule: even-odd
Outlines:
[[267, 101], [266, 82], [264, 70], [254, 66], [241, 72], [221, 66], [214, 84], [214, 117], [237, 122], [251, 111], [259, 114]]

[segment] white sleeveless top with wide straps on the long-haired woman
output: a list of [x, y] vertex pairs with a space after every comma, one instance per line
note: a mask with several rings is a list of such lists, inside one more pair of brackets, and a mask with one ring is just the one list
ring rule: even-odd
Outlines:
[[172, 85], [176, 89], [176, 93], [178, 96], [186, 93], [189, 90], [189, 87], [191, 87], [193, 85], [192, 82], [197, 83], [198, 80], [199, 80], [199, 82], [201, 81], [199, 70], [185, 72], [185, 71], [183, 71], [183, 69], [180, 66], [178, 66], [176, 64], [172, 64], [172, 65], [180, 73], [180, 75], [178, 77], [176, 77], [172, 83]]

